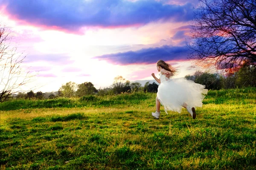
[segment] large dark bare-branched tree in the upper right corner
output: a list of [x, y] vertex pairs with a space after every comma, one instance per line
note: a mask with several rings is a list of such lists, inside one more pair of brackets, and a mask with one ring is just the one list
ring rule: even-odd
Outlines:
[[256, 65], [256, 1], [200, 0], [192, 25], [189, 58], [229, 69]]

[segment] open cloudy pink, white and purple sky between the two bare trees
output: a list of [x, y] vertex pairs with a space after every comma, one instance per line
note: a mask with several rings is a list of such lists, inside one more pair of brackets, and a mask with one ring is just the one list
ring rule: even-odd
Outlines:
[[160, 59], [198, 69], [186, 41], [198, 0], [0, 0], [0, 23], [12, 29], [23, 69], [36, 75], [36, 91], [58, 91], [66, 82], [99, 88], [153, 79]]

